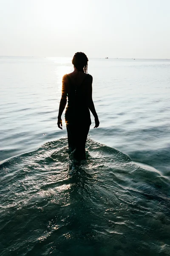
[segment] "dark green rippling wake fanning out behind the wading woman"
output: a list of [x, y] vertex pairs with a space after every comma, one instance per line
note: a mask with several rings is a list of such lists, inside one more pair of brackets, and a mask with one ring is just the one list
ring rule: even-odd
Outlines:
[[75, 162], [67, 139], [0, 165], [1, 256], [169, 255], [170, 180], [88, 139]]

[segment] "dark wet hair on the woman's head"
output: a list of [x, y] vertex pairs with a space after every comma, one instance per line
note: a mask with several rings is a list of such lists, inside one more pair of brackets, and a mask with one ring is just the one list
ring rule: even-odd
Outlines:
[[88, 57], [83, 52], [76, 52], [72, 59], [72, 64], [79, 71], [84, 71], [88, 73]]

